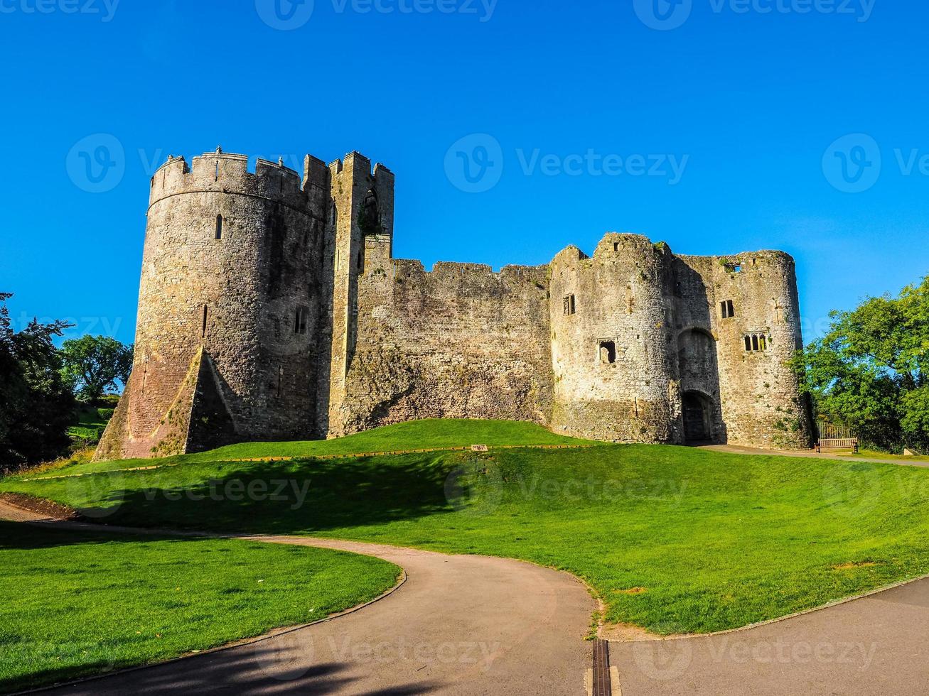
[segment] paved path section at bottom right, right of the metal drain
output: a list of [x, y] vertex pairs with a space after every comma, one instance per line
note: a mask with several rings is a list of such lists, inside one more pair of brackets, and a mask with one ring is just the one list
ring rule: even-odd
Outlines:
[[929, 579], [702, 638], [609, 644], [622, 696], [929, 694]]

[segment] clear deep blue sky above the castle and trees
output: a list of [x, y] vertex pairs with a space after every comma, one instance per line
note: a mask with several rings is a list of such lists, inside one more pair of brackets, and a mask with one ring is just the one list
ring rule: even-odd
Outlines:
[[[14, 319], [131, 342], [153, 167], [217, 144], [383, 161], [395, 253], [427, 267], [543, 264], [608, 230], [783, 249], [806, 339], [929, 272], [929, 167], [911, 161], [929, 155], [924, 3], [275, 1], [0, 0]], [[472, 161], [450, 153], [476, 133]], [[867, 137], [829, 150], [849, 134]], [[95, 183], [98, 162], [114, 166]]]

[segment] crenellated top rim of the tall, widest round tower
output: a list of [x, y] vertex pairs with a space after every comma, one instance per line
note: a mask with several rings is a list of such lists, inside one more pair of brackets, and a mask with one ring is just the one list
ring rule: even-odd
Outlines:
[[[308, 156], [307, 156], [308, 157]], [[280, 200], [300, 210], [310, 207], [310, 188], [328, 188], [328, 177], [317, 168], [309, 168], [301, 181], [300, 174], [282, 161], [258, 158], [255, 172], [249, 172], [249, 157], [217, 149], [193, 158], [189, 165], [183, 157], [169, 157], [151, 177], [150, 205], [184, 193], [227, 193]]]

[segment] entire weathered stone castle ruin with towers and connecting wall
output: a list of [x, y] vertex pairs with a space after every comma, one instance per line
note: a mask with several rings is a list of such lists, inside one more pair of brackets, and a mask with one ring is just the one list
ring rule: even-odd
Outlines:
[[421, 418], [803, 447], [792, 258], [610, 233], [543, 266], [393, 258], [394, 175], [217, 150], [151, 178], [132, 377], [97, 457]]

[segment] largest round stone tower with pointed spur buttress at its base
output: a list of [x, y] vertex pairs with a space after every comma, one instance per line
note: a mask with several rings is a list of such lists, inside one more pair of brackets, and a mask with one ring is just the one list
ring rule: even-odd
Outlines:
[[329, 172], [244, 155], [151, 178], [136, 354], [98, 458], [314, 432]]

